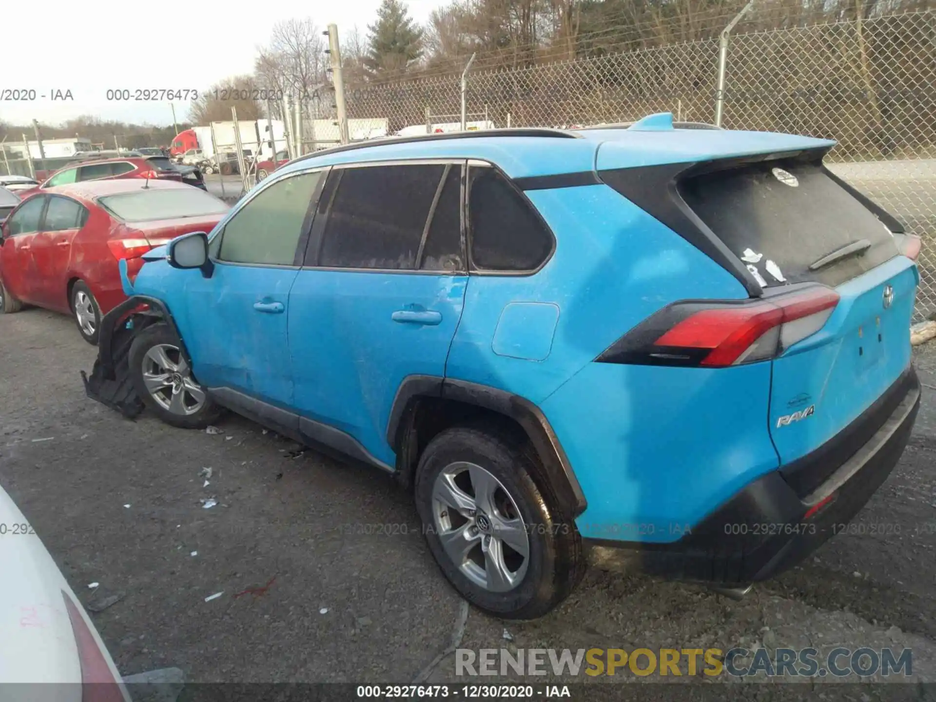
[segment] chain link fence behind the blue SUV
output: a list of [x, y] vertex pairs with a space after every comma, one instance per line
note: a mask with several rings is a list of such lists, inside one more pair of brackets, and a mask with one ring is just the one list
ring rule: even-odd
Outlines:
[[[630, 122], [671, 111], [712, 122], [718, 40], [470, 74], [467, 105], [494, 126]], [[388, 133], [461, 110], [460, 76], [349, 85], [348, 117]], [[829, 168], [923, 239], [915, 319], [936, 314], [936, 12], [731, 37], [724, 126], [836, 139]]]

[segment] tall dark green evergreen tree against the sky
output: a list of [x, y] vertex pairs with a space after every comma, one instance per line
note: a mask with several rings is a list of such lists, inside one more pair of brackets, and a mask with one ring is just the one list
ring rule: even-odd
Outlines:
[[422, 56], [422, 30], [400, 0], [383, 0], [377, 22], [369, 24], [364, 65], [379, 78], [393, 78]]

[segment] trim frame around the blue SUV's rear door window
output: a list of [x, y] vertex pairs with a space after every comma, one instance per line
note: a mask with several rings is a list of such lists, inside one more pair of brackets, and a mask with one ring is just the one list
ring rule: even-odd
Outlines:
[[[310, 231], [309, 246], [306, 250], [301, 268], [303, 270], [309, 271], [344, 271], [348, 273], [394, 273], [396, 275], [449, 275], [449, 276], [463, 276], [469, 274], [468, 266], [468, 252], [467, 252], [467, 236], [466, 229], [468, 227], [468, 222], [465, 219], [466, 212], [466, 188], [467, 188], [467, 172], [468, 172], [468, 158], [464, 157], [439, 157], [439, 158], [394, 158], [387, 159], [383, 161], [360, 161], [360, 162], [349, 162], [334, 164], [331, 166], [331, 172], [329, 173], [328, 183], [326, 185], [327, 192], [322, 194], [323, 197], [319, 198], [318, 209], [315, 212], [312, 228]], [[341, 183], [341, 177], [345, 170], [350, 168], [373, 168], [378, 166], [459, 166], [461, 168], [461, 188], [460, 188], [460, 219], [461, 219], [461, 261], [462, 266], [461, 270], [457, 271], [444, 271], [444, 270], [433, 270], [433, 269], [399, 269], [399, 268], [345, 268], [342, 266], [319, 266], [318, 260], [322, 254], [322, 244], [325, 241], [323, 234], [325, 233], [325, 225], [329, 218], [329, 210], [331, 204], [334, 201], [335, 195], [338, 193], [338, 186]], [[432, 202], [432, 207], [429, 212], [429, 216], [426, 218], [426, 226], [431, 226], [432, 215], [435, 213], [435, 205], [437, 204], [437, 198], [441, 197], [442, 187], [445, 185], [446, 176], [448, 175], [448, 170], [444, 170], [442, 177], [439, 181], [439, 188], [436, 190], [436, 199]], [[423, 238], [419, 244], [419, 251], [417, 252], [417, 265], [421, 262], [419, 256], [422, 255], [423, 246], [426, 242], [426, 237], [428, 235], [428, 228], [423, 229]]]

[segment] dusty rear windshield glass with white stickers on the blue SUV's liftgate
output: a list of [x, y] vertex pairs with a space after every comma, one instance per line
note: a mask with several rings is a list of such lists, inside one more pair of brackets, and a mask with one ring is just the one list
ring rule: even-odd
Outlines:
[[679, 189], [762, 285], [840, 285], [898, 253], [881, 221], [817, 163], [762, 162], [695, 176]]

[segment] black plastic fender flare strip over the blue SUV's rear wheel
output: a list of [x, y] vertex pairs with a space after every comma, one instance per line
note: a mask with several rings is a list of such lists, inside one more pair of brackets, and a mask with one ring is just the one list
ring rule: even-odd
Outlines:
[[[534, 402], [506, 390], [433, 375], [404, 378], [397, 388], [387, 423], [387, 441], [398, 457], [405, 456], [407, 423], [423, 398], [463, 402], [512, 418], [530, 439], [563, 513], [575, 519], [585, 511], [588, 506], [585, 493], [548, 419]], [[409, 479], [409, 476], [405, 475], [403, 479]]]

